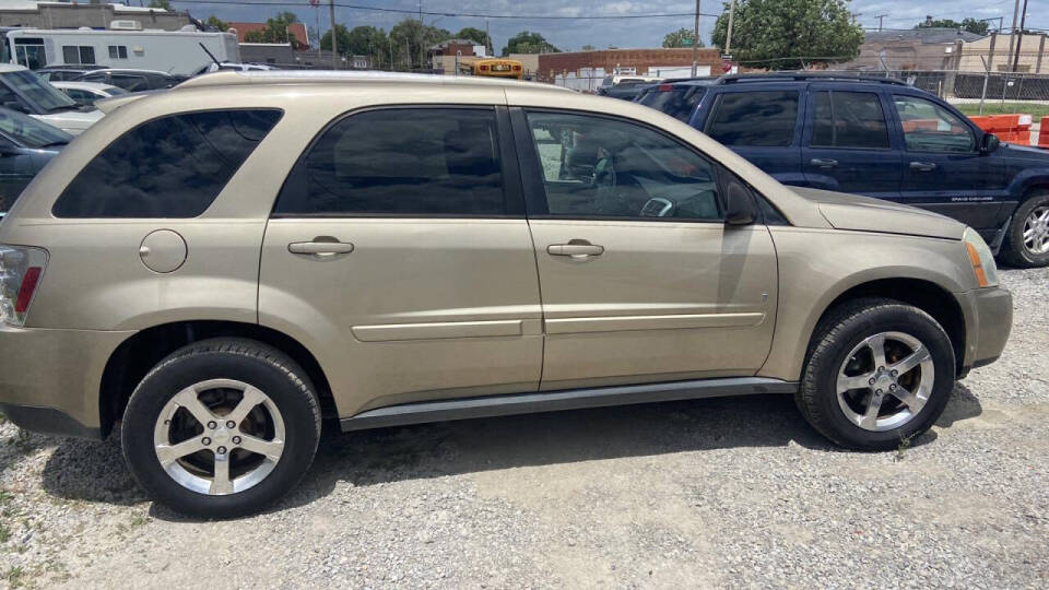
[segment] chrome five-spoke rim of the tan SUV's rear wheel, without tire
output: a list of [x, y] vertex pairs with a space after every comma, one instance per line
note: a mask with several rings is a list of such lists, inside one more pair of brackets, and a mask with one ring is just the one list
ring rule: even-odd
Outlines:
[[284, 418], [269, 396], [243, 381], [209, 379], [164, 405], [153, 446], [161, 467], [182, 487], [227, 495], [273, 471], [284, 434]]

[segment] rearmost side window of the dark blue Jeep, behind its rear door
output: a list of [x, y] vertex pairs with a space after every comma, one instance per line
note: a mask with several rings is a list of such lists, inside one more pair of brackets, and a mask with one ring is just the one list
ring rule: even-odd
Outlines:
[[798, 122], [798, 91], [728, 92], [718, 96], [706, 133], [726, 145], [787, 148]]

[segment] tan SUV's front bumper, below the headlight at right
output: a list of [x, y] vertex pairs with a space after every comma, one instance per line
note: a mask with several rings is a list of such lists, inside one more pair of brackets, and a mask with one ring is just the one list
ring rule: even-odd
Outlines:
[[1013, 295], [1002, 287], [988, 287], [962, 293], [958, 300], [966, 317], [964, 375], [1002, 355], [1013, 328]]

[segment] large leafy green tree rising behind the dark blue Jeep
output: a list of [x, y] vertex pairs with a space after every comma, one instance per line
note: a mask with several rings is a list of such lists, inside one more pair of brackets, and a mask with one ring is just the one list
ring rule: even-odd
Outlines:
[[[711, 42], [724, 47], [729, 5]], [[847, 0], [738, 0], [731, 51], [752, 68], [793, 70], [848, 61], [860, 55], [863, 28]]]

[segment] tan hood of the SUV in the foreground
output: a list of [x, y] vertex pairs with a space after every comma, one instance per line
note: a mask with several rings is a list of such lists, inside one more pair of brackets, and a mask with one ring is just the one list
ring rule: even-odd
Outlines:
[[814, 202], [836, 229], [962, 239], [965, 224], [909, 205], [811, 188], [790, 187]]

